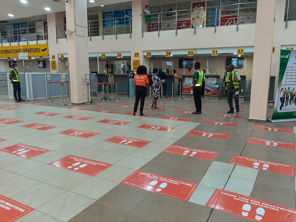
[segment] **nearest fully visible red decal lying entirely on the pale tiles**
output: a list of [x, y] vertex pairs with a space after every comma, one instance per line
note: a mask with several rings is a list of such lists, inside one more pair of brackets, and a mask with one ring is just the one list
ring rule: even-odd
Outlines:
[[112, 166], [112, 164], [109, 163], [103, 163], [96, 160], [89, 160], [71, 155], [49, 163], [49, 165], [84, 173], [89, 176], [95, 176], [103, 170], [106, 170], [108, 167]]

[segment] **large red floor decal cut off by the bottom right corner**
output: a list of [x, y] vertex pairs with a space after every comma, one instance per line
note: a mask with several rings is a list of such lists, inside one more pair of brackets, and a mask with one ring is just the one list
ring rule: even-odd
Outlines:
[[295, 221], [296, 209], [216, 189], [206, 207], [253, 221]]

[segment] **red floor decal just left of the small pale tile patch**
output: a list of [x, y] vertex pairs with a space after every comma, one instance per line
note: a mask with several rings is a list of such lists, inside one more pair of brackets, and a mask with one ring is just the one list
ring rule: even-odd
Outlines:
[[121, 182], [129, 186], [187, 201], [197, 184], [137, 170]]

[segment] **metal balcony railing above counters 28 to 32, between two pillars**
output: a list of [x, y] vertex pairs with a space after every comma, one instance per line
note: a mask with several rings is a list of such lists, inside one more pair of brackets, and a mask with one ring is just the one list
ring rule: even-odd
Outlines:
[[142, 37], [144, 32], [179, 29], [215, 27], [224, 25], [239, 25], [256, 23], [257, 1], [217, 5], [211, 7], [196, 7], [194, 9], [158, 12], [140, 15], [142, 19]]

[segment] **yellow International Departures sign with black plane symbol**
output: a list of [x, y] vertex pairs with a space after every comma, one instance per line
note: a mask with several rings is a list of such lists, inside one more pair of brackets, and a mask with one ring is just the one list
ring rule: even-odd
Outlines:
[[48, 56], [48, 44], [3, 46], [0, 47], [0, 58], [18, 57], [19, 52], [28, 52], [28, 56]]

